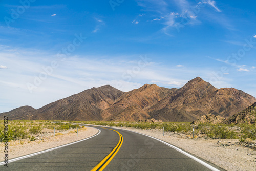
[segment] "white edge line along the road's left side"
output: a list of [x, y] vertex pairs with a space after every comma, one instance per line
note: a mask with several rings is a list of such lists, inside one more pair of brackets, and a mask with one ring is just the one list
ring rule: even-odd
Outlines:
[[[94, 128], [97, 129], [96, 127], [94, 127]], [[99, 130], [99, 129], [97, 129], [97, 130]], [[11, 162], [17, 161], [17, 160], [21, 160], [21, 159], [25, 159], [25, 158], [28, 158], [28, 157], [31, 157], [31, 156], [38, 155], [38, 154], [50, 152], [50, 151], [53, 151], [54, 149], [62, 148], [62, 147], [65, 147], [65, 146], [68, 146], [68, 145], [72, 145], [72, 144], [75, 144], [75, 143], [78, 143], [78, 142], [81, 142], [81, 141], [84, 141], [84, 140], [88, 140], [88, 139], [90, 139], [90, 138], [93, 138], [93, 137], [99, 135], [100, 133], [101, 133], [101, 131], [99, 130], [99, 132], [98, 132], [97, 134], [95, 134], [94, 136], [88, 137], [88, 138], [86, 138], [86, 139], [82, 139], [82, 140], [79, 140], [79, 141], [71, 142], [71, 143], [69, 143], [69, 144], [65, 144], [65, 145], [61, 145], [61, 146], [54, 147], [54, 148], [46, 149], [46, 150], [44, 150], [44, 151], [32, 153], [32, 154], [29, 154], [29, 155], [17, 157], [17, 158], [14, 158], [14, 159], [10, 159], [10, 160], [8, 160], [8, 164], [11, 163]], [[6, 164], [5, 161], [0, 162], [0, 166], [1, 166], [1, 165], [4, 165], [4, 164]]]

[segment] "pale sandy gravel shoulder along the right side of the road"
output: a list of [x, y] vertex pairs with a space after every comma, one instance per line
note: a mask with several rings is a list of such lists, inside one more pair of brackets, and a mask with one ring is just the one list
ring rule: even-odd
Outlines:
[[[122, 129], [136, 131], [132, 128]], [[138, 129], [136, 132], [161, 139], [226, 170], [256, 170], [255, 149], [236, 144], [239, 140], [205, 140], [204, 138], [193, 140], [185, 138], [183, 134], [170, 132], [165, 132], [163, 136], [163, 131], [159, 129]]]

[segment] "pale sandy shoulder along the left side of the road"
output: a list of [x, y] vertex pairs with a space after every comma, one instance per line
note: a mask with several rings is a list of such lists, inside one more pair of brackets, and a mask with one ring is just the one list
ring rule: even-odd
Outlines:
[[[84, 138], [91, 137], [98, 133], [98, 130], [92, 128], [92, 127], [86, 127], [85, 129], [79, 129], [78, 130], [78, 137], [77, 133], [75, 132], [76, 129], [70, 129], [61, 131], [61, 134], [58, 135], [55, 133], [55, 137], [53, 137], [52, 133], [47, 133], [45, 135], [38, 135], [36, 136], [35, 141], [30, 141], [29, 139], [25, 140], [15, 140], [8, 143], [8, 159], [16, 158], [19, 156], [24, 156], [27, 154], [39, 152], [45, 149], [53, 148], [56, 146], [68, 144], [74, 141], [78, 141]], [[60, 132], [60, 131], [58, 131]], [[0, 145], [0, 156], [4, 156], [4, 143], [1, 143]], [[0, 161], [3, 161], [4, 159], [1, 157]]]

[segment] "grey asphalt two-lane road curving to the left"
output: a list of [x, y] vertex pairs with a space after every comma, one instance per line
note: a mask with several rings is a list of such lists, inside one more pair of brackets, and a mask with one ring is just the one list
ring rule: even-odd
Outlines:
[[[97, 128], [101, 133], [93, 138], [11, 162], [8, 168], [1, 165], [0, 170], [92, 170], [99, 165], [104, 170], [210, 170], [145, 135]], [[104, 158], [105, 163], [99, 164]]]

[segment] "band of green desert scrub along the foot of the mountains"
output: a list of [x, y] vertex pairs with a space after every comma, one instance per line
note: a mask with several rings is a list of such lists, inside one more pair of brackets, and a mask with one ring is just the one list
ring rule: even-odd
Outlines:
[[[52, 123], [56, 122], [56, 123]], [[69, 122], [69, 123], [67, 123]], [[70, 124], [70, 123], [75, 124]], [[44, 120], [19, 120], [9, 121], [8, 137], [9, 141], [26, 139], [30, 141], [35, 140], [36, 134], [41, 134], [43, 129], [54, 130], [69, 130], [81, 127], [78, 124], [92, 124], [101, 126], [115, 126], [115, 127], [133, 127], [137, 129], [158, 129], [159, 132], [173, 132], [177, 134], [185, 134], [191, 137], [194, 128], [195, 137], [203, 137], [205, 139], [239, 139], [240, 142], [245, 142], [256, 139], [256, 125], [255, 124], [210, 124], [200, 123], [192, 125], [190, 122], [162, 122], [162, 123], [145, 123], [145, 122], [103, 122], [103, 121], [44, 121]], [[84, 126], [82, 126], [84, 127]], [[70, 131], [70, 133], [76, 131]], [[55, 134], [55, 136], [61, 135]], [[0, 121], [0, 142], [4, 140], [4, 121]]]

